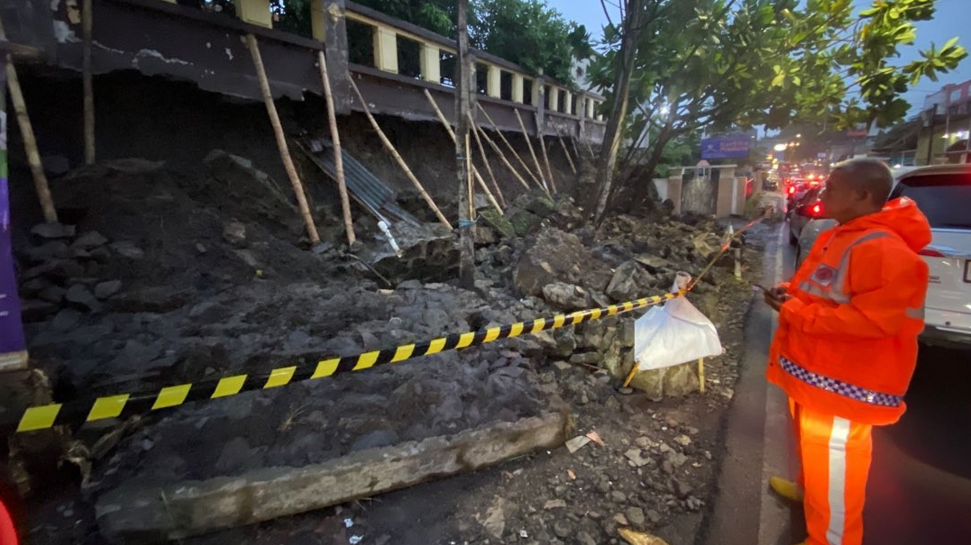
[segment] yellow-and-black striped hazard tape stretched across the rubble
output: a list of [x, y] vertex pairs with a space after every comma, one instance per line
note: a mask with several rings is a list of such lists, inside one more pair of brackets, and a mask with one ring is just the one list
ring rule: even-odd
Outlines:
[[[633, 310], [659, 305], [684, 297], [698, 281], [711, 270], [728, 250], [731, 240], [750, 229], [760, 220], [753, 221], [744, 228], [727, 235], [720, 251], [709, 261], [685, 289], [660, 296], [628, 301], [619, 305], [579, 310], [570, 314], [557, 314], [549, 318], [517, 322], [502, 327], [487, 328], [478, 332], [452, 334], [419, 344], [404, 344], [384, 350], [363, 352], [354, 356], [318, 359], [305, 359], [287, 367], [269, 372], [247, 373], [224, 376], [219, 379], [168, 386], [160, 390], [142, 393], [118, 394], [97, 398], [93, 401], [69, 401], [28, 407], [17, 424], [17, 433], [48, 430], [55, 426], [77, 428], [87, 422], [111, 418], [128, 418], [152, 411], [178, 407], [191, 401], [218, 400], [229, 398], [243, 392], [266, 390], [292, 384], [317, 380], [335, 374], [372, 369], [385, 364], [396, 364], [405, 360], [438, 354], [447, 350], [460, 350], [494, 342], [502, 338], [521, 335], [534, 335], [543, 331], [574, 326], [586, 321], [616, 316]], [[636, 369], [636, 367], [635, 367]]]

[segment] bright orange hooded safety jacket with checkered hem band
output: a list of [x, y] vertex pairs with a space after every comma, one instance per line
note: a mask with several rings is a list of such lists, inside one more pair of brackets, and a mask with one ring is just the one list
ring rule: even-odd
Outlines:
[[820, 235], [789, 283], [769, 351], [768, 379], [812, 409], [892, 424], [917, 363], [930, 243], [910, 199]]

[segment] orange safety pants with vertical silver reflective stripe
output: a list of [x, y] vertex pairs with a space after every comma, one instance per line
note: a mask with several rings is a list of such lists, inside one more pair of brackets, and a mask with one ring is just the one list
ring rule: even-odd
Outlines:
[[789, 400], [805, 491], [807, 545], [861, 545], [863, 501], [873, 426], [821, 413]]

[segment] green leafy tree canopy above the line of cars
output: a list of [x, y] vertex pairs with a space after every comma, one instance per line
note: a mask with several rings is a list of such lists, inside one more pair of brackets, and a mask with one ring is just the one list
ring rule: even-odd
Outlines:
[[[854, 15], [853, 0], [627, 0], [646, 16], [641, 29], [604, 29], [602, 55], [588, 71], [608, 98], [619, 73], [620, 45], [636, 45], [629, 99], [637, 108], [622, 129], [652, 127], [648, 154], [705, 127], [709, 133], [809, 123], [845, 129], [887, 126], [910, 105], [901, 98], [922, 78], [953, 70], [967, 51], [951, 40], [895, 66], [914, 43], [915, 21], [934, 15], [934, 0], [874, 0]], [[661, 112], [668, 112], [662, 114]]]

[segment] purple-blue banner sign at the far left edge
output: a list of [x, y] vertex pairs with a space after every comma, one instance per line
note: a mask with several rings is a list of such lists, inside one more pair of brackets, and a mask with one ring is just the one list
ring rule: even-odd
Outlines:
[[7, 66], [0, 58], [0, 370], [24, 369], [27, 364], [20, 300], [14, 275], [10, 236], [10, 192], [7, 184]]

